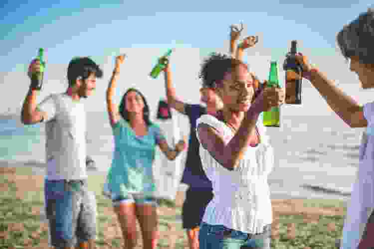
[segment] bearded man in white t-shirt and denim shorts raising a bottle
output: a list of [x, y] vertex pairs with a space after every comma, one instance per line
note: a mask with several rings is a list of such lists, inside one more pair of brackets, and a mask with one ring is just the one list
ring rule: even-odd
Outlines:
[[[35, 59], [29, 77], [39, 70]], [[23, 124], [45, 123], [45, 207], [50, 244], [56, 249], [73, 249], [75, 238], [78, 248], [95, 248], [96, 204], [87, 190], [86, 113], [81, 99], [92, 94], [102, 74], [90, 58], [74, 58], [67, 69], [65, 93], [51, 94], [37, 105], [37, 90], [31, 83], [23, 103]]]

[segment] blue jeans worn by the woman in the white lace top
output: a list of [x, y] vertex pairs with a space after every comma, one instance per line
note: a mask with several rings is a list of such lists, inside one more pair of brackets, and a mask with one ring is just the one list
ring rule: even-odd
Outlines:
[[271, 225], [261, 234], [247, 234], [222, 225], [201, 223], [199, 249], [270, 249]]

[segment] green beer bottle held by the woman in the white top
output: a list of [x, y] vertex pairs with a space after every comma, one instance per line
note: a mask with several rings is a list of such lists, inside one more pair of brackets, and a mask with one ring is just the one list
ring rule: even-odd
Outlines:
[[[270, 62], [270, 73], [269, 81], [267, 82], [269, 87], [280, 87], [278, 80], [278, 65], [276, 61]], [[264, 126], [280, 126], [280, 112], [279, 107], [272, 107], [270, 111], [263, 112], [263, 124]]]

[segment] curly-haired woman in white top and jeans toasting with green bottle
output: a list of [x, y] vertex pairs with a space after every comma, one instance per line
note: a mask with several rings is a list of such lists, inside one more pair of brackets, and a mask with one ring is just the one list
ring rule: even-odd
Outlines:
[[203, 115], [196, 126], [202, 166], [214, 195], [200, 226], [200, 249], [270, 249], [267, 177], [274, 157], [258, 118], [284, 102], [284, 91], [255, 91], [247, 66], [220, 54], [204, 61], [200, 78], [224, 104], [216, 117]]

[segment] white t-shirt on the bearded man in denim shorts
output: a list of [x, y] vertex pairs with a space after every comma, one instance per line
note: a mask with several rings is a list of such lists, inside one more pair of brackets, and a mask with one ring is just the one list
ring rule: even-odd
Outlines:
[[38, 110], [45, 112], [48, 180], [79, 180], [86, 173], [86, 113], [82, 101], [65, 93], [45, 98]]

